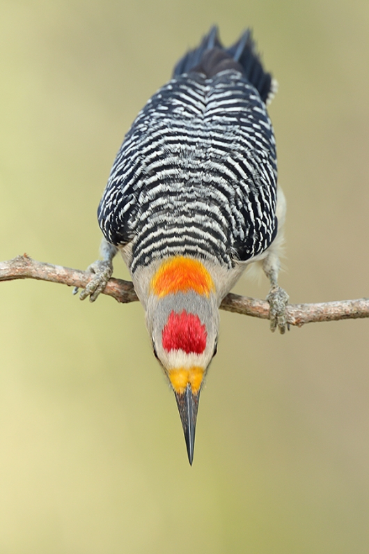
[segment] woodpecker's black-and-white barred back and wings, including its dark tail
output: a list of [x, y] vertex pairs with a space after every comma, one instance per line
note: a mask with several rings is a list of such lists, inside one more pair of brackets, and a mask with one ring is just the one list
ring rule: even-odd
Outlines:
[[213, 28], [148, 101], [111, 169], [98, 218], [131, 245], [132, 273], [164, 256], [231, 268], [276, 237], [271, 75], [250, 31], [224, 49]]

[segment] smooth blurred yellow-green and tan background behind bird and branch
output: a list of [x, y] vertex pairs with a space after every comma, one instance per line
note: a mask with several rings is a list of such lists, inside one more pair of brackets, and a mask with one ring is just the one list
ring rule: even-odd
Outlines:
[[[1, 0], [1, 260], [96, 259], [123, 136], [213, 23], [252, 26], [280, 84], [281, 285], [369, 295], [368, 0]], [[1, 554], [368, 553], [369, 321], [281, 337], [222, 312], [190, 468], [141, 305], [0, 295]]]

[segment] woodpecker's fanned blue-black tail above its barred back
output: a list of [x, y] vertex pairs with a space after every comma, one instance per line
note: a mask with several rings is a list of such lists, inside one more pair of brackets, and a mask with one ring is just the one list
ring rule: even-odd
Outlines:
[[274, 97], [276, 81], [262, 67], [251, 29], [247, 29], [233, 46], [224, 48], [219, 40], [217, 27], [213, 26], [201, 41], [201, 45], [180, 59], [175, 66], [174, 75], [196, 71], [213, 77], [226, 69], [242, 72], [267, 104]]

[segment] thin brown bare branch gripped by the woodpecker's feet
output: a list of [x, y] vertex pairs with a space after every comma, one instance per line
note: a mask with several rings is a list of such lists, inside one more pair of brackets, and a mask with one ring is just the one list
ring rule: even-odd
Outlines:
[[[0, 262], [0, 281], [38, 279], [84, 288], [91, 277], [92, 275], [88, 271], [52, 266], [51, 263], [33, 260], [27, 254], [17, 256], [13, 260]], [[122, 279], [111, 278], [103, 294], [112, 296], [118, 302], [123, 303], [139, 300], [134, 292], [133, 284]], [[262, 319], [269, 318], [269, 303], [266, 300], [256, 300], [229, 293], [221, 302], [220, 307], [237, 314]], [[369, 317], [369, 298], [321, 302], [320, 304], [289, 304], [286, 310], [288, 323], [297, 325], [297, 327], [314, 321], [364, 318]]]

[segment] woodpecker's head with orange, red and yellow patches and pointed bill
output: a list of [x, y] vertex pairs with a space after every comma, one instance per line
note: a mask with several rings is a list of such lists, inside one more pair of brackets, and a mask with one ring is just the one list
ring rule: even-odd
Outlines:
[[214, 282], [201, 261], [183, 256], [162, 261], [150, 279], [146, 323], [175, 394], [191, 464], [198, 399], [217, 352], [219, 327]]

